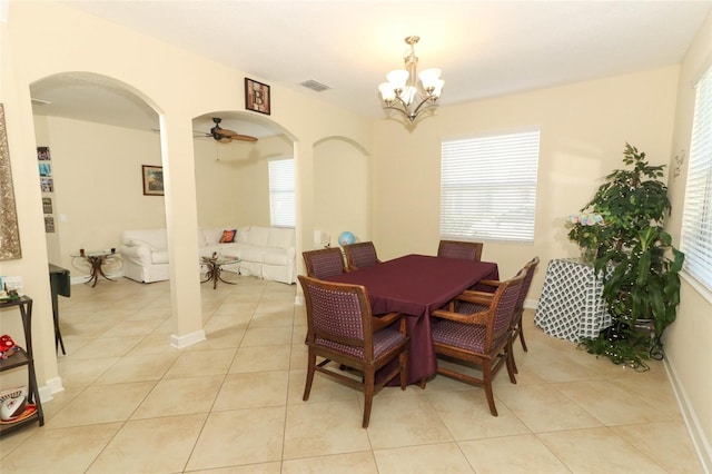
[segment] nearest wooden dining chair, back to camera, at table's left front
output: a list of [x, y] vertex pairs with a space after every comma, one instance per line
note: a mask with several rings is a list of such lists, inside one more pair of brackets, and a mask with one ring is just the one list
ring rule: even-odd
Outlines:
[[[360, 285], [323, 282], [299, 275], [307, 305], [308, 361], [304, 401], [309, 399], [315, 372], [364, 392], [362, 426], [368, 427], [374, 395], [398, 374], [405, 391], [408, 374], [408, 336], [405, 318], [400, 324], [376, 330], [366, 288]], [[316, 358], [324, 359], [317, 364]], [[376, 383], [376, 371], [398, 359]], [[337, 372], [335, 362], [363, 373], [358, 379]]]

